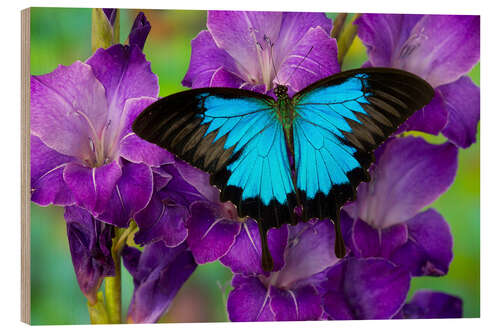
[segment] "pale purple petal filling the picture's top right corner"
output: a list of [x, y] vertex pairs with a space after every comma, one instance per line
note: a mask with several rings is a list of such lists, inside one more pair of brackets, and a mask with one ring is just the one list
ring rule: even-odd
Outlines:
[[479, 16], [425, 15], [393, 61], [433, 87], [456, 81], [479, 61]]

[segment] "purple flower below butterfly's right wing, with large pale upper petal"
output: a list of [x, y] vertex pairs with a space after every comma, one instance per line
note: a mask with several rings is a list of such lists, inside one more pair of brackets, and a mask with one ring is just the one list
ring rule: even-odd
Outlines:
[[412, 275], [443, 275], [452, 259], [452, 236], [431, 204], [452, 184], [457, 148], [421, 138], [389, 140], [376, 152], [371, 182], [344, 207], [346, 243], [355, 257], [383, 257]]

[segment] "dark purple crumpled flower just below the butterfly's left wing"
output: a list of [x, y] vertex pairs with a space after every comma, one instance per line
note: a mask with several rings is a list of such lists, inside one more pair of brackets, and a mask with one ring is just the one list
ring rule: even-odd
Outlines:
[[233, 245], [240, 231], [236, 208], [219, 201], [219, 190], [207, 173], [186, 162], [172, 159], [153, 169], [154, 194], [135, 220], [139, 232], [135, 241], [147, 244], [162, 240], [175, 247], [184, 241], [196, 262], [219, 259]]

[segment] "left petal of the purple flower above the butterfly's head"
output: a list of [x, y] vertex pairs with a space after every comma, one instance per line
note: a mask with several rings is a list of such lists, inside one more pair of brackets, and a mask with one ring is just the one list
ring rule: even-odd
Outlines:
[[[182, 85], [191, 88], [239, 87], [243, 82], [235, 74], [233, 58], [217, 47], [210, 32], [203, 30], [191, 41], [191, 60]], [[222, 73], [215, 73], [221, 71]], [[231, 74], [232, 73], [232, 74]], [[232, 76], [231, 76], [232, 75]], [[218, 78], [215, 82], [212, 78]], [[226, 80], [221, 79], [226, 77]]]

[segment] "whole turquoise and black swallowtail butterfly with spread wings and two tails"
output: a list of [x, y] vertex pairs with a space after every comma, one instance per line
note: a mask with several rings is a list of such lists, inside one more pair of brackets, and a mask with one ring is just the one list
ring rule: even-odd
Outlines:
[[369, 181], [373, 151], [429, 103], [433, 88], [406, 71], [365, 68], [319, 80], [276, 99], [236, 88], [200, 88], [164, 97], [134, 121], [141, 138], [210, 174], [221, 201], [258, 222], [262, 266], [273, 261], [267, 231], [329, 218], [335, 253], [345, 256], [340, 209]]

